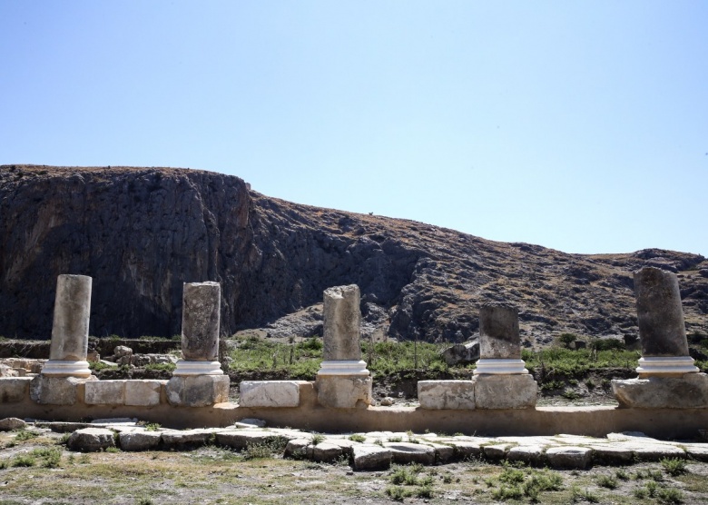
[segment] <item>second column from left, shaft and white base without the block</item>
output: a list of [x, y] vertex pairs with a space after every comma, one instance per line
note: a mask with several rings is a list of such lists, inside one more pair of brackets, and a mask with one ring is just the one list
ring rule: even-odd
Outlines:
[[184, 283], [182, 357], [172, 375], [222, 375], [219, 360], [221, 285]]

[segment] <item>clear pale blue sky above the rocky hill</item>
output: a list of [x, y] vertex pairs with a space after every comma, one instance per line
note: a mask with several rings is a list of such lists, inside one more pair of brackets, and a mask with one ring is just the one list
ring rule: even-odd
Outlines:
[[0, 2], [0, 163], [708, 256], [708, 2]]

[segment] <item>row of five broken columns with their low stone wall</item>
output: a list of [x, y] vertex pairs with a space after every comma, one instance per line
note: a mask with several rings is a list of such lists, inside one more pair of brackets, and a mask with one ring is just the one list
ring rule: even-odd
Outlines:
[[688, 355], [678, 280], [645, 267], [634, 283], [642, 359], [635, 379], [612, 381], [618, 407], [537, 407], [536, 381], [521, 359], [518, 314], [499, 303], [480, 309], [480, 359], [469, 380], [419, 381], [418, 407], [385, 407], [374, 405], [362, 360], [356, 285], [324, 292], [324, 360], [314, 381], [243, 381], [236, 404], [219, 362], [219, 283], [184, 284], [182, 360], [171, 379], [98, 381], [87, 361], [92, 279], [60, 275], [50, 359], [39, 373], [0, 378], [0, 419], [127, 417], [170, 428], [259, 419], [274, 428], [333, 433], [694, 437], [708, 426], [708, 376]]

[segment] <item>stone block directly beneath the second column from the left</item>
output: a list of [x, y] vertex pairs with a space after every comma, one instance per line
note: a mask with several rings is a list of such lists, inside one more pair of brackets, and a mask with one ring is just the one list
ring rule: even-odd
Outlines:
[[167, 401], [180, 407], [207, 407], [229, 400], [228, 375], [172, 377], [165, 385]]

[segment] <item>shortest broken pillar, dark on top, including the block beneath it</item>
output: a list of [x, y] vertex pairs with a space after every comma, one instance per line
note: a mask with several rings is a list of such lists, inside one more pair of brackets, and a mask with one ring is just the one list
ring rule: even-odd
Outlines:
[[477, 409], [536, 406], [538, 387], [521, 359], [516, 309], [499, 304], [482, 306], [479, 311], [479, 360], [474, 375]]

